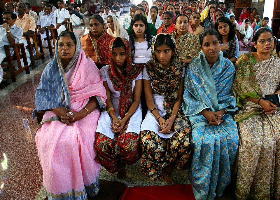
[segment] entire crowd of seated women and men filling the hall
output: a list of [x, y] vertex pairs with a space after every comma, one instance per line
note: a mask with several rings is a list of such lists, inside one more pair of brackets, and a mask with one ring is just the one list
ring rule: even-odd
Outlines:
[[[280, 198], [280, 44], [269, 18], [244, 8], [237, 19], [204, 0], [57, 4], [36, 23], [30, 5], [16, 15], [6, 3], [0, 25], [5, 44], [26, 46], [36, 24], [42, 41], [46, 28], [59, 32], [33, 112], [45, 111], [35, 140], [49, 199], [95, 196], [101, 166], [124, 179], [139, 159], [153, 181], [174, 184], [173, 171], [189, 169], [196, 199], [235, 179], [237, 199]], [[81, 39], [65, 31], [73, 15], [91, 15]]]

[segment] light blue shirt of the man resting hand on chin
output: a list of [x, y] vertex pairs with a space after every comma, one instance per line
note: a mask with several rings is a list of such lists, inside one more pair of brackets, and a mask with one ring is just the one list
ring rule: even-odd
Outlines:
[[[11, 34], [14, 36], [14, 39], [15, 39], [15, 44], [18, 43], [18, 41], [21, 40], [22, 38], [22, 28], [16, 26], [16, 25], [13, 25], [10, 27], [10, 31], [11, 31]], [[4, 45], [10, 45], [10, 41], [8, 40], [8, 36], [7, 36], [7, 32], [6, 32], [6, 29], [3, 28], [3, 25], [0, 25], [0, 53], [4, 53], [5, 54], [5, 49], [4, 49]], [[14, 51], [14, 48], [11, 47], [10, 48], [10, 51], [13, 52]]]

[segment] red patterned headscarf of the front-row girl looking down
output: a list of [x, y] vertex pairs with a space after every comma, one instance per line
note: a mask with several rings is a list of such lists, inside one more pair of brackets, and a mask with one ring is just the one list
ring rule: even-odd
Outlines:
[[[112, 47], [115, 39], [120, 38], [125, 44], [126, 51], [126, 68], [122, 73], [120, 69], [115, 65], [115, 62], [112, 60]], [[115, 91], [120, 91], [119, 98], [119, 116], [123, 118], [125, 113], [128, 111], [131, 100], [132, 100], [132, 81], [140, 74], [143, 69], [143, 66], [132, 65], [131, 63], [131, 50], [130, 44], [124, 37], [116, 37], [110, 42], [110, 54], [109, 54], [109, 77], [112, 81]], [[128, 123], [128, 121], [127, 121]]]

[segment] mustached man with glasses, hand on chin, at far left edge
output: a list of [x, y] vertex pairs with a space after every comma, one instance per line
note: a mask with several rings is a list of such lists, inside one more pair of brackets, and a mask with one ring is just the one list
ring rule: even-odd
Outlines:
[[[22, 38], [22, 28], [15, 25], [17, 15], [11, 11], [3, 12], [4, 24], [0, 25], [0, 63], [6, 58], [4, 45], [17, 44]], [[14, 48], [10, 48], [10, 52]], [[12, 54], [13, 55], [13, 54]], [[0, 67], [0, 83], [3, 79], [3, 69]]]

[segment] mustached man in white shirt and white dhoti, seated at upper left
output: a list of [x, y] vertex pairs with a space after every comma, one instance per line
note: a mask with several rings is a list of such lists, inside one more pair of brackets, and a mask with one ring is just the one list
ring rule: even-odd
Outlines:
[[58, 0], [57, 5], [59, 9], [55, 10], [54, 14], [57, 18], [56, 27], [59, 35], [62, 31], [66, 30], [65, 23], [70, 18], [70, 13], [64, 8], [64, 2], [62, 0]]

